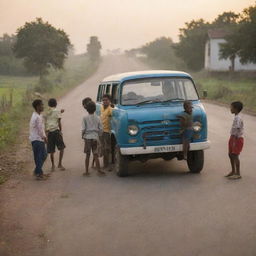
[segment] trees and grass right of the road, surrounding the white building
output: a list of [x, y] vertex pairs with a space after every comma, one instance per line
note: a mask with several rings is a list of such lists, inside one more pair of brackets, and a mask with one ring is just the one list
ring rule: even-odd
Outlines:
[[[209, 29], [228, 31], [226, 43], [221, 45], [220, 58], [229, 59], [227, 72], [204, 71], [204, 54]], [[234, 72], [234, 59], [242, 63], [256, 63], [256, 5], [242, 13], [224, 12], [213, 22], [192, 20], [180, 28], [179, 42], [162, 37], [137, 49], [126, 52], [137, 57], [153, 69], [183, 70], [192, 74], [200, 95], [207, 99], [229, 104], [240, 100], [245, 109], [256, 113], [256, 71]], [[243, 38], [244, 40], [241, 40]]]

